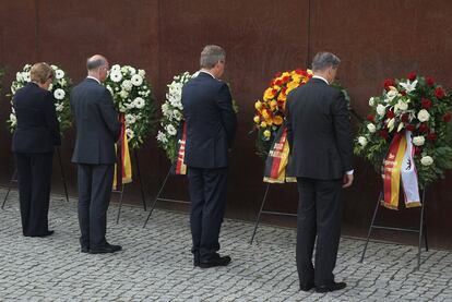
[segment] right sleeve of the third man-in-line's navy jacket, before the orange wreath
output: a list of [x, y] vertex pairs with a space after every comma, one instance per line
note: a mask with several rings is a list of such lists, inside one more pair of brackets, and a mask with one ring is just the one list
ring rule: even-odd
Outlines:
[[226, 130], [228, 146], [231, 147], [236, 136], [237, 117], [233, 108], [233, 97], [229, 87], [223, 84], [218, 90], [217, 102], [222, 111], [222, 122]]

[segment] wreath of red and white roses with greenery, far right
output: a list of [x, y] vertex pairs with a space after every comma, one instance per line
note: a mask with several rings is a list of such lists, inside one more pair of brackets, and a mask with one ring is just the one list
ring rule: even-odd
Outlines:
[[419, 185], [425, 188], [452, 168], [452, 96], [430, 76], [409, 73], [386, 78], [380, 96], [369, 99], [370, 112], [361, 124], [355, 154], [381, 172], [383, 158], [396, 132], [411, 131]]

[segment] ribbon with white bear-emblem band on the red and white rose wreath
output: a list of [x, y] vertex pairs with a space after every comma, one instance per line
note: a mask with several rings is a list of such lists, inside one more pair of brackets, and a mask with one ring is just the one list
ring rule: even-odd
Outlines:
[[414, 161], [412, 133], [396, 133], [391, 142], [383, 161], [383, 200], [381, 204], [391, 209], [399, 209], [400, 181], [406, 207], [420, 206], [419, 184]]

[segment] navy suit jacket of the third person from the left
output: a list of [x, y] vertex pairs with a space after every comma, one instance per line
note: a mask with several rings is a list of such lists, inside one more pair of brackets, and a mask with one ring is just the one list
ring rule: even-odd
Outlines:
[[187, 124], [186, 162], [195, 168], [227, 167], [237, 118], [227, 84], [200, 72], [182, 88]]

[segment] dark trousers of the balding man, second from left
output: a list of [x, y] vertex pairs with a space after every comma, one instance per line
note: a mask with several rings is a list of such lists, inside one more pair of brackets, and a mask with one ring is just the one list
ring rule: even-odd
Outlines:
[[114, 165], [79, 164], [80, 243], [87, 247], [106, 244], [107, 209], [114, 179]]

